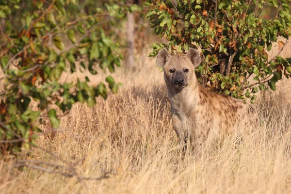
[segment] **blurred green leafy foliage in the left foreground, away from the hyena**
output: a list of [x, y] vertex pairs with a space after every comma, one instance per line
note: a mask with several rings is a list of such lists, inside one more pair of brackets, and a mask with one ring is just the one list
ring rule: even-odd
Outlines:
[[[126, 11], [127, 6], [92, 0], [0, 0], [0, 156], [33, 144], [34, 133], [41, 131], [41, 113], [59, 128], [51, 104], [65, 113], [76, 102], [91, 107], [95, 97], [107, 97], [104, 83], [93, 87], [88, 77], [77, 83], [59, 79], [65, 71], [75, 72], [81, 58], [88, 62], [80, 64], [80, 71], [88, 69], [93, 75], [97, 64], [110, 72], [120, 66], [123, 57], [111, 26]], [[118, 91], [111, 76], [106, 82], [113, 93]], [[38, 103], [37, 111], [30, 106], [32, 99]]]

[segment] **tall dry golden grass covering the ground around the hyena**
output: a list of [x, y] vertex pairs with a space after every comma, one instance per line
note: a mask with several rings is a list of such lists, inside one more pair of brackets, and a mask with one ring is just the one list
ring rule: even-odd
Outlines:
[[[291, 110], [282, 95], [258, 105], [262, 125], [247, 126], [254, 133], [242, 134], [242, 142], [233, 133], [183, 156], [162, 73], [153, 68], [154, 59], [147, 64], [134, 72], [119, 70], [119, 94], [97, 98], [94, 108], [76, 104], [61, 117], [61, 128], [68, 130], [37, 139], [59, 158], [37, 148], [26, 156], [65, 161], [84, 177], [109, 172], [109, 178], [78, 180], [1, 161], [0, 193], [291, 193]], [[51, 129], [47, 121], [44, 130]]]

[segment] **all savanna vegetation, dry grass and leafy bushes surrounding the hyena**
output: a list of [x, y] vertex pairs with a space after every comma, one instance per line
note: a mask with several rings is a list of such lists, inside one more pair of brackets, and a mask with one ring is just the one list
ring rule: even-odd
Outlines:
[[[0, 192], [290, 193], [289, 5], [0, 0]], [[184, 156], [152, 56], [190, 47], [260, 125]]]

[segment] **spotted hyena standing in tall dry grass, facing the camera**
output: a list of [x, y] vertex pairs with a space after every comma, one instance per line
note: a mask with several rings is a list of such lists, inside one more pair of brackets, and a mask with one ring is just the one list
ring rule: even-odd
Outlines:
[[226, 134], [251, 108], [241, 100], [211, 92], [198, 84], [194, 69], [201, 63], [197, 50], [171, 56], [162, 49], [157, 65], [163, 68], [174, 129], [180, 141], [194, 143]]

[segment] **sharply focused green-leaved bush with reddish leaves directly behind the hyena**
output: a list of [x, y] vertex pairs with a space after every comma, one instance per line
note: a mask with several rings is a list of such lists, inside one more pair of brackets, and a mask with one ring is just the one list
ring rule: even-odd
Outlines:
[[[148, 0], [147, 17], [154, 32], [168, 44], [154, 44], [150, 56], [162, 48], [185, 52], [200, 47], [203, 65], [198, 80], [225, 95], [254, 101], [259, 90], [282, 76], [290, 77], [291, 59], [278, 56], [291, 35], [290, 1], [281, 0]], [[275, 9], [272, 18], [262, 18], [265, 7]], [[270, 51], [278, 42], [278, 54]], [[253, 77], [255, 82], [250, 82]], [[245, 90], [246, 89], [246, 90]]]

